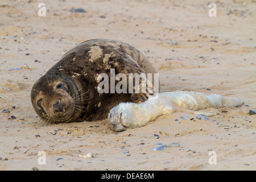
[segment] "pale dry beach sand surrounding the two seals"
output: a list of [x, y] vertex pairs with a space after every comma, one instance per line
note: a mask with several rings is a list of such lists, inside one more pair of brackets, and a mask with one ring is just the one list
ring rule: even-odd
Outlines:
[[[46, 17], [38, 16], [40, 2], [0, 2], [0, 111], [10, 110], [0, 113], [1, 170], [256, 169], [256, 115], [248, 114], [256, 110], [255, 0], [216, 1], [217, 17], [203, 0], [43, 1]], [[73, 7], [86, 13], [68, 14]], [[183, 110], [122, 133], [106, 119], [47, 125], [32, 108], [32, 85], [65, 52], [94, 38], [142, 51], [160, 73], [162, 92], [216, 93], [249, 106], [208, 109], [216, 113], [208, 121]], [[172, 142], [180, 147], [151, 150]], [[209, 164], [209, 151], [217, 164]], [[94, 158], [79, 157], [89, 152]]]

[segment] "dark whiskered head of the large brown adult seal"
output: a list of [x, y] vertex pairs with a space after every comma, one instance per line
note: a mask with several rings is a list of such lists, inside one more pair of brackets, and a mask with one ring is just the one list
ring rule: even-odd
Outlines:
[[79, 93], [69, 78], [46, 74], [35, 82], [31, 102], [39, 117], [48, 123], [74, 122], [74, 115], [79, 113], [76, 104]]

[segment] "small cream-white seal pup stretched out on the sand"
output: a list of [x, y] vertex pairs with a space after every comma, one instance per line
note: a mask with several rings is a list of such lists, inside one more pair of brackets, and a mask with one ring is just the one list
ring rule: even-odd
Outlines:
[[164, 92], [149, 98], [142, 104], [121, 103], [113, 107], [108, 114], [110, 128], [120, 132], [126, 128], [141, 127], [164, 114], [172, 114], [177, 107], [189, 110], [202, 110], [209, 107], [239, 107], [244, 105], [237, 98], [221, 97], [218, 94], [206, 96], [199, 92]]

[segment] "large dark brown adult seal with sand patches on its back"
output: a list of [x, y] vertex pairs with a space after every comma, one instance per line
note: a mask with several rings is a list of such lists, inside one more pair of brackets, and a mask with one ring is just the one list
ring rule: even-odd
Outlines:
[[[117, 40], [93, 39], [80, 43], [35, 82], [31, 102], [40, 118], [49, 123], [105, 119], [121, 102], [141, 103], [154, 94], [154, 82], [146, 93], [99, 93], [98, 75], [157, 73], [136, 48]], [[151, 83], [151, 82], [149, 82]], [[117, 84], [117, 80], [115, 80]], [[151, 90], [151, 91], [148, 91]]]

